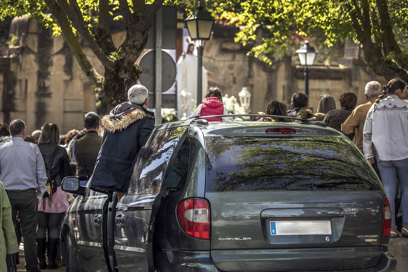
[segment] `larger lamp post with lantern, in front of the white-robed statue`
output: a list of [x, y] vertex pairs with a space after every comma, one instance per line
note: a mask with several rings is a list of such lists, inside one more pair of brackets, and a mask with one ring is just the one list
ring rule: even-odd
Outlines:
[[204, 45], [202, 41], [209, 40], [214, 27], [214, 18], [209, 11], [204, 10], [201, 4], [198, 4], [195, 10], [184, 20], [187, 24], [188, 34], [191, 40], [199, 41], [197, 46], [197, 105], [202, 100], [202, 57]]

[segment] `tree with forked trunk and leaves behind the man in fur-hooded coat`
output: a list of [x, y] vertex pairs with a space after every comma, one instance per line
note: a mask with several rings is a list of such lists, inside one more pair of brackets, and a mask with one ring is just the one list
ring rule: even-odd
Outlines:
[[[2, 0], [0, 20], [28, 15], [54, 35], [62, 34], [82, 71], [106, 95], [110, 108], [126, 101], [126, 90], [136, 84], [142, 71], [135, 64], [147, 42], [151, 20], [165, 0]], [[173, 1], [177, 2], [177, 1]], [[149, 4], [149, 5], [147, 5]], [[126, 38], [116, 47], [109, 29], [111, 20], [121, 20]], [[104, 66], [100, 75], [86, 57], [80, 39], [86, 42]]]

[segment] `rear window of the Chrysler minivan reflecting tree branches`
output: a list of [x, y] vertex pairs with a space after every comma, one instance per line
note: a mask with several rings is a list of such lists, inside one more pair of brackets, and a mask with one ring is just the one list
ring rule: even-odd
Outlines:
[[207, 192], [381, 190], [346, 139], [216, 136], [205, 144]]

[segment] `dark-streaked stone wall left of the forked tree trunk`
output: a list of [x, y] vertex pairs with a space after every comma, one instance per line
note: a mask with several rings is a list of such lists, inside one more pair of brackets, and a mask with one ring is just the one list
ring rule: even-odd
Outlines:
[[83, 112], [95, 108], [93, 88], [64, 38], [27, 17], [14, 18], [10, 33], [19, 40], [0, 77], [3, 122], [23, 119], [29, 133], [45, 122], [56, 123], [61, 133], [82, 129]]

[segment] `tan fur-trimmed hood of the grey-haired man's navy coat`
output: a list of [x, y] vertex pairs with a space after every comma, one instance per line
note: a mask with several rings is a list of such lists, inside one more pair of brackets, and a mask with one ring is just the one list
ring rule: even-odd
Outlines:
[[154, 113], [138, 104], [124, 102], [113, 108], [109, 115], [103, 116], [100, 123], [105, 130], [114, 133], [144, 118], [154, 119]]

